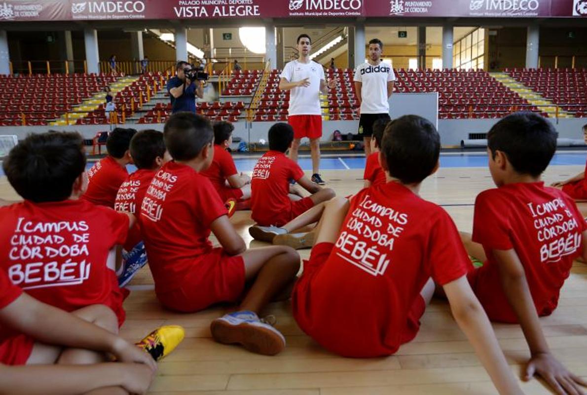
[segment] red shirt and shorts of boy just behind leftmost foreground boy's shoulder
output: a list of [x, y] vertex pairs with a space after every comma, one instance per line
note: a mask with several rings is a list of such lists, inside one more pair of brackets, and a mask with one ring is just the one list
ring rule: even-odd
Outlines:
[[[120, 185], [114, 202], [114, 210], [136, 214], [140, 210], [143, 197], [151, 180], [155, 176], [155, 170], [139, 169], [131, 173], [126, 180]], [[137, 210], [138, 207], [138, 210]], [[137, 216], [137, 219], [139, 216]], [[124, 243], [124, 249], [130, 251], [143, 238], [141, 237], [139, 221], [129, 230], [129, 236]]]

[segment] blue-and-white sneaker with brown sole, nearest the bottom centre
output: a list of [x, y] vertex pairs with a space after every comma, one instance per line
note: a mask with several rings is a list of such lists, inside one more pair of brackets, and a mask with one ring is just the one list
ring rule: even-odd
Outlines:
[[222, 344], [241, 344], [253, 353], [275, 355], [285, 348], [285, 337], [253, 312], [225, 314], [212, 321], [212, 337]]

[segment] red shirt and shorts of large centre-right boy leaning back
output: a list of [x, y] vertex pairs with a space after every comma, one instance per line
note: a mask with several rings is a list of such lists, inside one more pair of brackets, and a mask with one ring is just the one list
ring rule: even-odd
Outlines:
[[470, 268], [450, 216], [389, 182], [352, 197], [330, 256], [313, 273], [305, 303], [296, 307], [304, 309], [312, 337], [327, 349], [389, 355], [416, 336], [408, 314], [427, 280], [447, 284]]

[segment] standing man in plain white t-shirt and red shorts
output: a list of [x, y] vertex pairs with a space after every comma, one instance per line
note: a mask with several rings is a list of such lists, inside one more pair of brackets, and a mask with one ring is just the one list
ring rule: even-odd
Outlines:
[[298, 36], [299, 58], [287, 63], [281, 72], [279, 89], [291, 90], [289, 95], [289, 125], [294, 128], [294, 142], [289, 149], [289, 158], [298, 160], [298, 148], [302, 138], [310, 139], [312, 153], [312, 181], [318, 185], [325, 182], [319, 174], [320, 138], [322, 137], [322, 109], [320, 92], [335, 88], [335, 81], [326, 83], [320, 63], [310, 59], [312, 40], [307, 34]]

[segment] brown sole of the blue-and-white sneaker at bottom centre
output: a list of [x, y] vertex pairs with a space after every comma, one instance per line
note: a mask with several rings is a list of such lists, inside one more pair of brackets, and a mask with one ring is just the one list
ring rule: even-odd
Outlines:
[[275, 355], [285, 347], [281, 337], [264, 327], [241, 323], [232, 325], [224, 320], [214, 320], [210, 325], [212, 337], [222, 344], [241, 344], [252, 353]]

